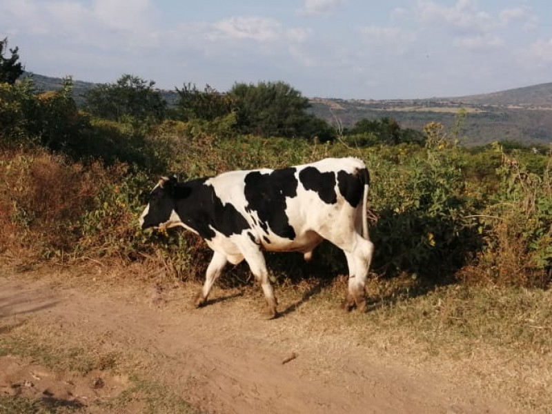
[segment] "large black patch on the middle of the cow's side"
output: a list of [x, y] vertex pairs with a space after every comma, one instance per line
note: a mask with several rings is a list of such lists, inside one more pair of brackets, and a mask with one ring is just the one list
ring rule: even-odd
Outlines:
[[268, 233], [270, 230], [286, 239], [295, 239], [295, 230], [289, 225], [286, 216], [286, 197], [297, 197], [295, 168], [283, 168], [262, 174], [249, 172], [245, 177], [246, 209], [256, 211], [259, 226]]

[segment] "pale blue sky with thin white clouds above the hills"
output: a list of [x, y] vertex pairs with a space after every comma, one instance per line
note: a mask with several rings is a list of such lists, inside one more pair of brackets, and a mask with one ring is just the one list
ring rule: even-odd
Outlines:
[[552, 81], [549, 0], [0, 0], [4, 37], [39, 75], [171, 90], [426, 99]]

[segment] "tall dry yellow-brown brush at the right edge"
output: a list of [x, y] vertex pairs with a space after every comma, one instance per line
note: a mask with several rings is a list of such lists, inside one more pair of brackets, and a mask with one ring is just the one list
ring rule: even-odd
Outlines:
[[500, 186], [480, 219], [486, 246], [478, 277], [500, 285], [548, 286], [552, 282], [552, 154], [540, 174], [502, 154]]

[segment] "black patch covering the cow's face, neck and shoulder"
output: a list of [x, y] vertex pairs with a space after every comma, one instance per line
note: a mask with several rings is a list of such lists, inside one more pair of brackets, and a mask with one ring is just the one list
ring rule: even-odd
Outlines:
[[144, 217], [144, 228], [159, 226], [167, 221], [172, 209], [186, 226], [207, 240], [215, 237], [213, 229], [228, 237], [250, 228], [244, 216], [232, 204], [222, 203], [213, 186], [205, 184], [206, 180], [201, 178], [177, 183], [170, 188], [156, 188], [153, 193], [158, 192], [162, 202], [150, 201], [148, 215]]

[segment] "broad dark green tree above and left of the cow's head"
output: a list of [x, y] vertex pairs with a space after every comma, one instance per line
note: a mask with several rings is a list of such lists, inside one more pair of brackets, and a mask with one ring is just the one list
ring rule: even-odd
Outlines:
[[166, 116], [167, 104], [154, 81], [123, 75], [115, 83], [104, 83], [85, 94], [84, 108], [111, 121], [156, 123]]

